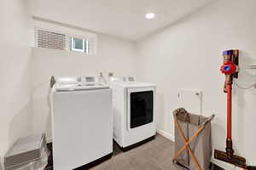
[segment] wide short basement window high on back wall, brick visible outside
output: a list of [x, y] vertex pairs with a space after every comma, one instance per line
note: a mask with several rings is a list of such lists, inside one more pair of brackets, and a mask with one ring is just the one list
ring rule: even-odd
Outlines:
[[96, 54], [96, 35], [84, 37], [83, 35], [35, 27], [35, 47], [60, 49], [81, 54]]

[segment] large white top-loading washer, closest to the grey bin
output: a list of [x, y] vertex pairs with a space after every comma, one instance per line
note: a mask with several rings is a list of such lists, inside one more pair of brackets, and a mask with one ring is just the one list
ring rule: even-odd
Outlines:
[[51, 91], [55, 170], [70, 170], [113, 153], [112, 90], [108, 85], [59, 78]]

